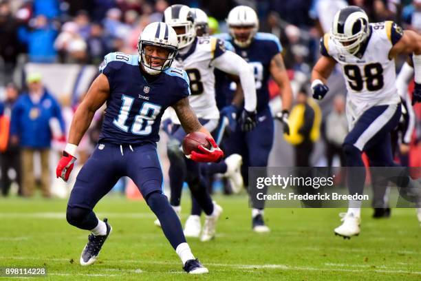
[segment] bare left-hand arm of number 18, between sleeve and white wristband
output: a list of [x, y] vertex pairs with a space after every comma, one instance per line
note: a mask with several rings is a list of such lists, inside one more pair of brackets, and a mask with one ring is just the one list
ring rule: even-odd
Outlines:
[[78, 145], [83, 135], [91, 125], [92, 118], [96, 110], [98, 110], [109, 98], [109, 83], [107, 76], [99, 74], [92, 82], [91, 87], [83, 98], [83, 101], [76, 110], [72, 125], [70, 125], [68, 143]]

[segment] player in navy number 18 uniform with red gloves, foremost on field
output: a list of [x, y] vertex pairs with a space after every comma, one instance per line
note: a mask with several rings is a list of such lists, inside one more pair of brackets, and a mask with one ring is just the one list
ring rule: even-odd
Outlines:
[[76, 110], [68, 143], [56, 168], [57, 177], [65, 181], [73, 169], [80, 139], [96, 110], [107, 103], [98, 145], [80, 170], [67, 205], [67, 222], [91, 231], [80, 256], [82, 265], [96, 261], [111, 233], [107, 219], [98, 220], [92, 209], [119, 178], [128, 176], [159, 218], [164, 235], [182, 260], [183, 269], [188, 273], [208, 272], [191, 253], [180, 220], [161, 189], [162, 169], [156, 143], [167, 107], [173, 107], [187, 133], [202, 132], [209, 136], [213, 149], [195, 155], [208, 162], [219, 161], [224, 156], [188, 103], [191, 93], [186, 72], [171, 67], [177, 51], [177, 34], [173, 28], [158, 22], [147, 25], [138, 42], [139, 54], [107, 54], [100, 65], [100, 74]]

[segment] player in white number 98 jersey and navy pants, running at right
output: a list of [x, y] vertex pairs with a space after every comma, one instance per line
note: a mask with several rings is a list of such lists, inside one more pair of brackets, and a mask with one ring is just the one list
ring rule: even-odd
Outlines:
[[[331, 32], [321, 39], [321, 54], [312, 71], [313, 97], [325, 96], [329, 90], [326, 80], [339, 63], [348, 92], [349, 133], [343, 151], [347, 167], [352, 169], [347, 172], [347, 187], [349, 194], [363, 195], [363, 152], [371, 167], [396, 167], [391, 155], [390, 133], [398, 125], [401, 114], [394, 60], [398, 54], [413, 55], [413, 101], [421, 100], [421, 36], [411, 30], [402, 31], [392, 21], [369, 23], [364, 10], [349, 6], [336, 13]], [[418, 200], [418, 183], [409, 176], [390, 180], [407, 190], [415, 190], [415, 200]], [[360, 207], [360, 200], [349, 200], [343, 224], [334, 229], [337, 235], [350, 238], [360, 233]]]

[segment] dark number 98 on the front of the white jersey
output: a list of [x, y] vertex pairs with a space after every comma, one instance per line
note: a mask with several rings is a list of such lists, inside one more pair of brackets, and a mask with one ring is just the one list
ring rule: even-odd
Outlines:
[[365, 65], [364, 77], [358, 65], [345, 65], [343, 72], [347, 76], [349, 87], [357, 92], [363, 90], [364, 81], [367, 84], [367, 90], [370, 92], [378, 91], [385, 85], [383, 81], [383, 67], [380, 63]]

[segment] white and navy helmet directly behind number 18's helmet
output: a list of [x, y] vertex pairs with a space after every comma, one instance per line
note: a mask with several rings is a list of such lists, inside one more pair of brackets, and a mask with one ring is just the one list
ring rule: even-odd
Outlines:
[[196, 32], [195, 28], [193, 28], [193, 14], [188, 6], [179, 4], [169, 6], [164, 11], [163, 21], [173, 28], [184, 28], [184, 33], [177, 34], [180, 49], [190, 45], [195, 40]]

